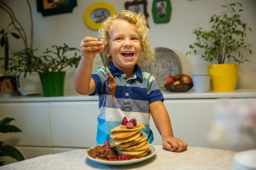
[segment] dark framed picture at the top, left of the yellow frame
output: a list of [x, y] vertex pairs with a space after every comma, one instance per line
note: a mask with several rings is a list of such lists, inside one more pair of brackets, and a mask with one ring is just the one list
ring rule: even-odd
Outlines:
[[77, 6], [76, 0], [36, 0], [37, 10], [43, 17], [56, 14], [72, 13]]

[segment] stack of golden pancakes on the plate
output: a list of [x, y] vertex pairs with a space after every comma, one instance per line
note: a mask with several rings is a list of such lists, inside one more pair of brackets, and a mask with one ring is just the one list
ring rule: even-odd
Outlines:
[[131, 157], [146, 156], [149, 150], [148, 137], [140, 133], [145, 126], [137, 124], [132, 129], [126, 125], [119, 125], [111, 130], [111, 146], [116, 147], [122, 155]]

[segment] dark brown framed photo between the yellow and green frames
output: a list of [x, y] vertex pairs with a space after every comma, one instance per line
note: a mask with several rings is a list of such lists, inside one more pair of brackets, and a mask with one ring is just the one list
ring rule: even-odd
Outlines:
[[141, 12], [148, 18], [147, 1], [146, 0], [134, 0], [132, 2], [125, 3], [125, 9], [133, 12]]

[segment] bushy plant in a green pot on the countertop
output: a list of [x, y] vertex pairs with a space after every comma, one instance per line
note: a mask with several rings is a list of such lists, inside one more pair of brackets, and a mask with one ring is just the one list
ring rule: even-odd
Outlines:
[[[24, 48], [13, 54], [11, 60], [12, 71], [15, 71], [17, 77], [24, 73], [24, 78], [28, 73], [38, 72], [41, 79], [42, 88], [45, 97], [63, 96], [64, 95], [64, 78], [67, 66], [77, 67], [81, 55], [77, 55], [78, 48], [71, 48], [64, 43], [61, 45], [52, 45], [55, 51], [46, 48], [45, 55], [36, 56], [34, 52], [38, 49]], [[74, 52], [73, 57], [67, 57], [67, 52]], [[55, 56], [55, 57], [53, 57]], [[18, 81], [18, 87], [20, 87]]]

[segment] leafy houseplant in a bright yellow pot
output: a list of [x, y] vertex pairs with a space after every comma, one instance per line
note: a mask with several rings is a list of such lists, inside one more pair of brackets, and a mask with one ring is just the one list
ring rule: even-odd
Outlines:
[[201, 57], [205, 61], [218, 61], [218, 64], [207, 66], [208, 74], [211, 74], [212, 91], [236, 90], [239, 64], [249, 62], [241, 50], [252, 54], [250, 44], [244, 42], [246, 31], [251, 31], [251, 28], [241, 21], [243, 9], [236, 10], [236, 6], [242, 7], [241, 3], [227, 4], [222, 6], [225, 11], [220, 15], [212, 15], [209, 21], [212, 27], [209, 31], [204, 31], [201, 27], [195, 28], [192, 33], [196, 35], [196, 42], [189, 45], [191, 51], [186, 53], [197, 54], [203, 51]]

